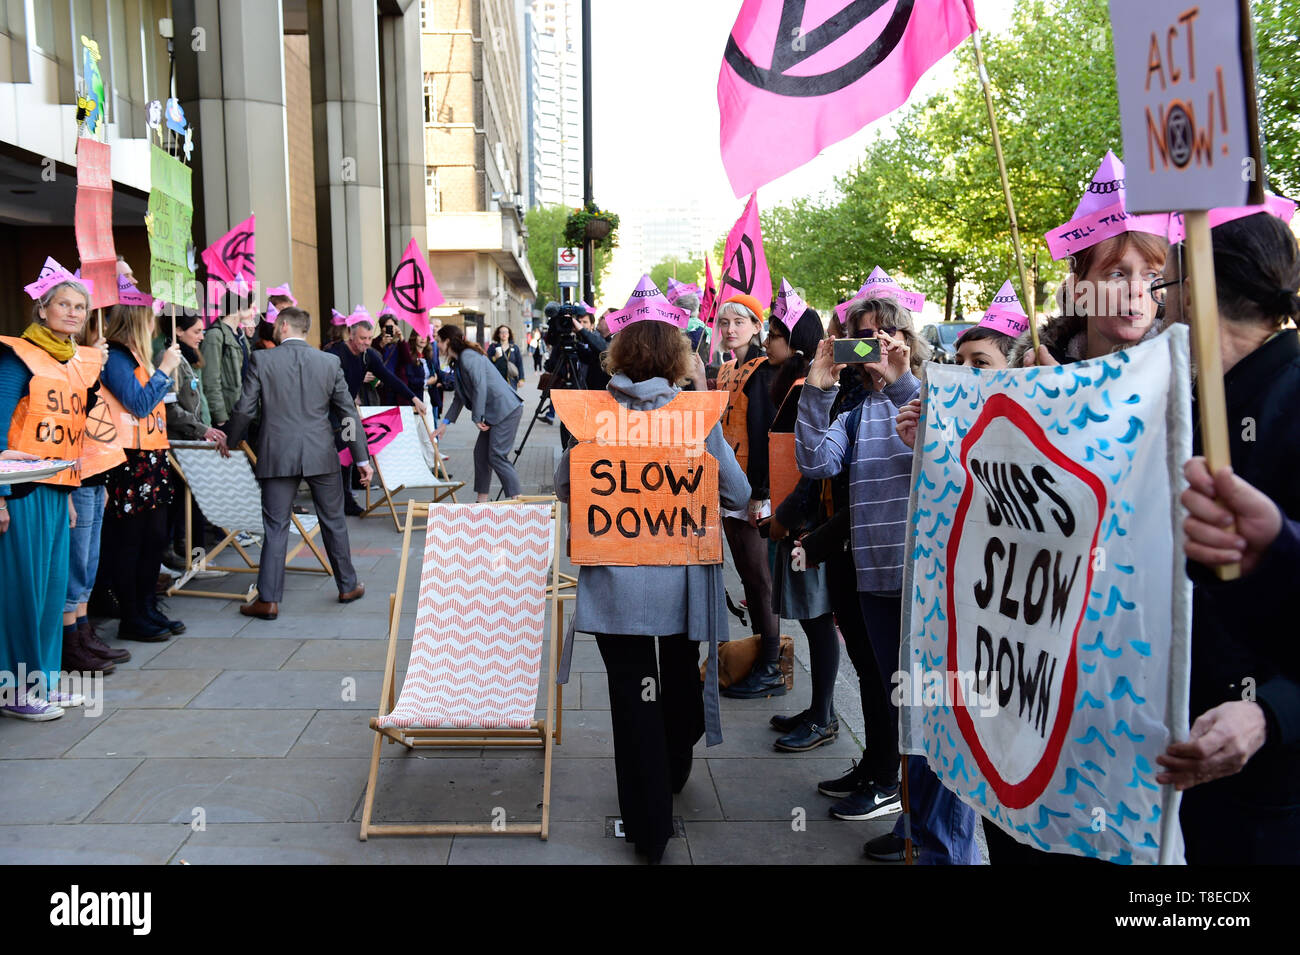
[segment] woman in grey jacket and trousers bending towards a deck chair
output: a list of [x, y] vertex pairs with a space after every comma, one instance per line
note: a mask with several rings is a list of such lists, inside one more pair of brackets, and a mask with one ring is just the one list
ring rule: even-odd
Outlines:
[[519, 474], [506, 455], [515, 446], [519, 420], [524, 417], [524, 399], [506, 383], [482, 350], [465, 340], [465, 333], [456, 325], [438, 329], [438, 353], [443, 360], [455, 360], [456, 400], [433, 437], [441, 438], [447, 425], [460, 416], [460, 409], [469, 408], [480, 430], [474, 443], [474, 492], [478, 503], [488, 500], [491, 472], [500, 478], [506, 496], [517, 498]]

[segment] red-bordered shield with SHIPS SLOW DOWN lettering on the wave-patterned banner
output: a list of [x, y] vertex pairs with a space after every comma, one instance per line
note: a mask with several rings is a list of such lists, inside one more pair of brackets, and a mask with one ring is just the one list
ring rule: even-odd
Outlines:
[[[1006, 395], [985, 401], [961, 461], [946, 665], [974, 674], [976, 699], [958, 682], [953, 715], [998, 802], [1018, 809], [1052, 781], [1074, 715], [1106, 491]], [[979, 698], [996, 700], [992, 715]]]

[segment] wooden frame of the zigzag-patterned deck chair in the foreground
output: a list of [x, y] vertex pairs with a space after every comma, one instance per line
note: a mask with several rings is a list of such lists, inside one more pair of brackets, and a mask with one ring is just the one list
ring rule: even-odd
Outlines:
[[[554, 496], [524, 496], [514, 500], [493, 502], [491, 507], [519, 507], [534, 505], [538, 502], [550, 503], [552, 520], [552, 551], [551, 551], [551, 579], [546, 587], [546, 599], [551, 605], [550, 647], [546, 654], [546, 716], [542, 720], [533, 720], [530, 726], [521, 729], [472, 729], [472, 728], [446, 728], [446, 729], [408, 729], [380, 726], [378, 721], [391, 713], [396, 706], [396, 650], [398, 629], [402, 620], [400, 607], [406, 591], [407, 564], [411, 556], [411, 531], [415, 528], [416, 517], [425, 518], [428, 526], [430, 503], [407, 502], [406, 525], [402, 533], [402, 560], [398, 565], [396, 592], [389, 595], [389, 650], [384, 663], [384, 685], [380, 690], [380, 709], [377, 716], [370, 717], [370, 729], [374, 730], [374, 747], [370, 750], [370, 773], [365, 783], [365, 802], [361, 809], [360, 839], [365, 842], [370, 835], [520, 835], [536, 834], [543, 841], [550, 837], [551, 822], [551, 755], [552, 747], [559, 743], [556, 725], [556, 712], [563, 706], [563, 698], [558, 699], [555, 674], [559, 665], [560, 642], [563, 641], [563, 603], [573, 599], [572, 595], [560, 592], [560, 504]], [[421, 548], [422, 561], [422, 548]], [[416, 574], [419, 577], [419, 573]], [[542, 819], [540, 822], [519, 822], [515, 825], [495, 825], [491, 822], [442, 822], [442, 824], [384, 824], [372, 822], [374, 812], [374, 793], [380, 777], [380, 751], [384, 741], [400, 743], [408, 750], [425, 747], [538, 747], [542, 750]]]

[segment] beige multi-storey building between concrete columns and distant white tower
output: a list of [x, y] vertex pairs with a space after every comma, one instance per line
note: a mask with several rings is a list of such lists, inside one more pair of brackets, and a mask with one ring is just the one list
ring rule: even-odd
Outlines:
[[523, 338], [537, 282], [528, 191], [523, 9], [517, 0], [421, 0], [429, 265], [443, 321]]

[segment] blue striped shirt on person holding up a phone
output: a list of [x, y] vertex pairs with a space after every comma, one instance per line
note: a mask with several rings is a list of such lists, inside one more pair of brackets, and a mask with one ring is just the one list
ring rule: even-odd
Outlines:
[[[794, 422], [794, 460], [809, 478], [835, 477], [845, 466], [849, 435], [845, 412], [831, 421], [838, 386], [823, 391], [805, 386]], [[904, 372], [883, 391], [867, 391], [862, 403], [853, 461], [849, 463], [849, 521], [858, 590], [896, 594], [902, 590], [902, 548], [913, 452], [894, 427], [898, 409], [920, 394], [920, 381]], [[829, 422], [829, 424], [827, 424]]]

